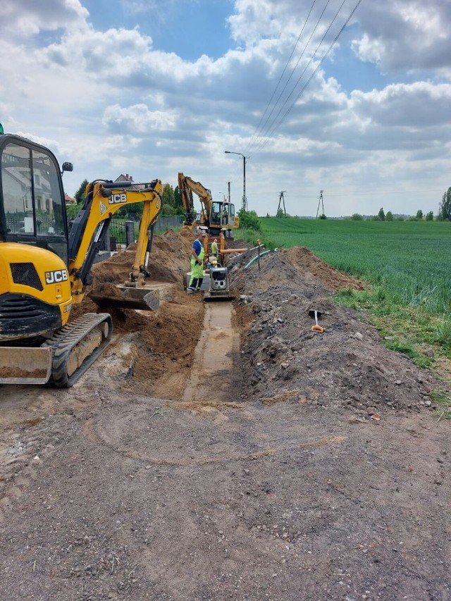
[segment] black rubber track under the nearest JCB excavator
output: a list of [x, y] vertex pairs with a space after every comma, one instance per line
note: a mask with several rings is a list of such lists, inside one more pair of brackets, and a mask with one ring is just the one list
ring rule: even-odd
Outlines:
[[[72, 376], [68, 376], [68, 359], [73, 347], [83, 340], [94, 328], [101, 323], [108, 323], [108, 336], [101, 342], [85, 361], [82, 362]], [[49, 384], [58, 388], [69, 388], [85, 373], [87, 368], [104, 352], [111, 342], [111, 333], [113, 332], [113, 323], [108, 313], [86, 313], [57, 330], [54, 335], [42, 343], [42, 347], [51, 347], [52, 366], [51, 379]]]

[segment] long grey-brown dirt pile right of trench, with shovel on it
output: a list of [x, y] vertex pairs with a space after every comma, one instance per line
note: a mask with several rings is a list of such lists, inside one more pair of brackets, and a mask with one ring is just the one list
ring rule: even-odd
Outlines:
[[[437, 383], [430, 373], [386, 349], [361, 314], [330, 301], [331, 292], [362, 289], [361, 282], [300, 247], [245, 268], [253, 256], [229, 262], [240, 292], [238, 321], [249, 323], [241, 350], [247, 398], [268, 404], [297, 391], [297, 402], [348, 407], [364, 419], [431, 405], [428, 392]], [[312, 309], [322, 313], [322, 334], [311, 331]]]

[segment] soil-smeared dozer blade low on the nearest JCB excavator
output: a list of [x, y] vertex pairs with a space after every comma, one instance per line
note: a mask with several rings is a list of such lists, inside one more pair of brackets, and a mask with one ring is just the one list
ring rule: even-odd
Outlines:
[[49, 347], [0, 347], [0, 384], [45, 384], [50, 374]]

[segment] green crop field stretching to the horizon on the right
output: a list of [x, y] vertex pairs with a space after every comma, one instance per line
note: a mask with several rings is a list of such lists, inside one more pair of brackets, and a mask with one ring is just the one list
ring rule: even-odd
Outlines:
[[451, 223], [261, 218], [276, 247], [305, 246], [326, 263], [383, 287], [396, 304], [434, 316], [451, 309]]

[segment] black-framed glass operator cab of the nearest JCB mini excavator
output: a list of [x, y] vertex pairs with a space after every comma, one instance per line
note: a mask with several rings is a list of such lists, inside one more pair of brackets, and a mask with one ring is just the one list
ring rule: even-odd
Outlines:
[[[25, 138], [0, 136], [0, 241], [49, 249], [65, 263], [68, 225], [58, 161]], [[63, 171], [70, 171], [65, 163]]]

